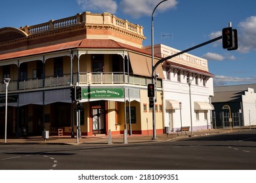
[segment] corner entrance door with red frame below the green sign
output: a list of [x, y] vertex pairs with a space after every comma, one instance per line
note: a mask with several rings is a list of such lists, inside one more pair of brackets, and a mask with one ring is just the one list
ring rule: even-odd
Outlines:
[[105, 133], [105, 120], [104, 120], [104, 109], [93, 108], [93, 134]]

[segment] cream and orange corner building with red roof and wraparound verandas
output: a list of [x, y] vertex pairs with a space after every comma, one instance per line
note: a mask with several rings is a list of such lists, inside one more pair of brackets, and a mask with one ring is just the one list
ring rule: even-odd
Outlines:
[[[8, 86], [7, 135], [76, 132], [70, 88], [82, 87], [81, 135], [152, 135], [151, 53], [143, 27], [103, 13], [83, 12], [38, 25], [0, 29], [0, 79]], [[156, 61], [160, 58], [155, 58]], [[158, 67], [156, 131], [163, 133]], [[5, 129], [5, 84], [0, 84], [0, 136]], [[126, 124], [126, 125], [125, 125]]]

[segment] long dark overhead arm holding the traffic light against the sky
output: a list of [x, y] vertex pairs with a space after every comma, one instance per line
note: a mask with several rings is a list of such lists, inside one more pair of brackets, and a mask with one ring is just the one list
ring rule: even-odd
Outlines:
[[179, 55], [181, 55], [181, 54], [184, 54], [184, 53], [189, 52], [189, 51], [191, 51], [191, 50], [194, 50], [194, 49], [196, 49], [196, 48], [200, 48], [200, 47], [202, 47], [202, 46], [204, 46], [204, 45], [206, 45], [206, 44], [209, 44], [209, 43], [211, 43], [211, 42], [218, 41], [219, 39], [222, 39], [222, 38], [223, 38], [223, 36], [221, 35], [220, 37], [216, 37], [215, 39], [211, 39], [210, 41], [203, 42], [202, 44], [198, 44], [198, 45], [196, 45], [196, 46], [193, 46], [192, 48], [188, 48], [188, 49], [186, 49], [186, 50], [184, 50], [184, 51], [181, 51], [181, 52], [179, 52], [179, 53], [177, 53], [177, 54], [173, 54], [173, 55], [171, 55], [171, 56], [167, 56], [166, 58], [160, 59], [160, 60], [154, 65], [154, 69], [153, 69], [152, 76], [151, 76], [152, 79], [154, 78], [154, 73], [155, 73], [155, 71], [156, 71], [156, 67], [158, 67], [158, 65], [160, 65], [160, 63], [163, 63], [163, 61], [166, 61], [167, 59], [174, 58], [174, 57], [176, 57], [176, 56], [179, 56]]

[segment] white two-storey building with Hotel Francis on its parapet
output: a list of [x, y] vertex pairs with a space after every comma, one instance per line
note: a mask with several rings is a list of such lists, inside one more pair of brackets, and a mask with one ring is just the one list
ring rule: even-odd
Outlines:
[[[150, 46], [146, 47], [150, 50]], [[163, 44], [154, 45], [155, 55], [166, 58], [181, 52]], [[211, 128], [213, 75], [207, 60], [184, 53], [163, 63], [163, 115], [165, 127], [175, 132], [183, 126], [193, 131]]]

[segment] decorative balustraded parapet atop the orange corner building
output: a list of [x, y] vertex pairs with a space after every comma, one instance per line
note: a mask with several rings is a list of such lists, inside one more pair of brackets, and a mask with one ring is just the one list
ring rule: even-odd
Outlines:
[[57, 29], [71, 27], [77, 24], [95, 26], [112, 25], [113, 27], [118, 27], [119, 29], [123, 29], [144, 37], [143, 27], [141, 25], [131, 24], [127, 20], [121, 20], [108, 12], [104, 12], [103, 14], [83, 12], [82, 14], [76, 14], [75, 16], [62, 18], [60, 20], [50, 20], [49, 22], [45, 22], [43, 24], [31, 26], [26, 25], [25, 27], [20, 27], [20, 29], [28, 33], [28, 35], [34, 35], [46, 31], [54, 31]]

